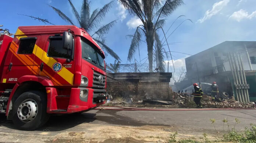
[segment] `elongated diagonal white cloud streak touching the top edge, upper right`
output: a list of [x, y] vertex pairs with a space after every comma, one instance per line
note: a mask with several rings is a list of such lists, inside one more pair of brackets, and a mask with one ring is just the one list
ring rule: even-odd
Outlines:
[[222, 0], [213, 4], [213, 8], [211, 10], [207, 10], [203, 18], [198, 19], [197, 22], [203, 23], [205, 20], [210, 19], [211, 16], [218, 14], [228, 3], [230, 0]]

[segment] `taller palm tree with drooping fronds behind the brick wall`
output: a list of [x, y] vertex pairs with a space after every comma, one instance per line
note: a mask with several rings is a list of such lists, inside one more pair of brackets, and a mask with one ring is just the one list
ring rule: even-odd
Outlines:
[[[147, 44], [147, 55], [149, 60], [149, 71], [153, 72], [153, 51], [156, 57], [157, 66], [163, 65], [163, 45], [160, 43], [157, 30], [160, 29], [168, 15], [183, 4], [182, 0], [118, 0], [129, 11], [131, 15], [136, 16], [142, 21], [132, 36], [131, 45], [128, 53], [128, 61], [132, 60], [135, 50], [142, 41], [142, 34], [145, 35]], [[161, 28], [162, 29], [162, 28]], [[163, 30], [163, 29], [162, 29]], [[167, 42], [167, 41], [166, 41]], [[155, 45], [154, 45], [155, 44]], [[168, 44], [167, 44], [168, 45]], [[155, 49], [153, 49], [155, 47]], [[160, 62], [159, 62], [160, 61]]]

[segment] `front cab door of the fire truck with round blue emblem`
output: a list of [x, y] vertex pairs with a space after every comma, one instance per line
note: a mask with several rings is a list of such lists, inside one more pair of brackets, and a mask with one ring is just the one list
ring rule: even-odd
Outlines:
[[[62, 48], [62, 36], [48, 35], [42, 50], [43, 70], [41, 76], [47, 76], [56, 86], [73, 85], [75, 58], [74, 40], [69, 50]], [[38, 52], [40, 52], [38, 50]]]

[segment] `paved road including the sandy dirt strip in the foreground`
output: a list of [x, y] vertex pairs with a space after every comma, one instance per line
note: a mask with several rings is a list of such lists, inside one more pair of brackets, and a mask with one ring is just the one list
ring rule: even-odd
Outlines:
[[[235, 128], [242, 131], [250, 123], [256, 124], [256, 110], [204, 110], [204, 111], [117, 111], [91, 110], [82, 114], [52, 116], [48, 123], [36, 131], [19, 131], [13, 128], [10, 121], [0, 123], [0, 136], [4, 142], [53, 142], [60, 138], [79, 136], [84, 140], [103, 142], [111, 138], [137, 136], [144, 142], [151, 136], [165, 136], [177, 131], [180, 135], [214, 134], [214, 128], [209, 121], [216, 119], [216, 127], [223, 131], [223, 120], [235, 124], [235, 118], [241, 123]], [[225, 130], [227, 126], [225, 125]], [[75, 134], [74, 134], [75, 133]], [[160, 135], [159, 135], [160, 134]], [[36, 138], [35, 138], [36, 136]], [[101, 136], [101, 140], [97, 140]], [[125, 137], [125, 138], [126, 138]], [[163, 139], [166, 139], [163, 137]], [[1, 140], [0, 140], [1, 142]], [[110, 141], [110, 142], [113, 142]]]

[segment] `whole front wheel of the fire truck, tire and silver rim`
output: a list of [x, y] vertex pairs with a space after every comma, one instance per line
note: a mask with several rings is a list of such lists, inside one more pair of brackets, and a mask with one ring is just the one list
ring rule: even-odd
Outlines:
[[35, 130], [49, 119], [46, 113], [47, 95], [41, 91], [22, 93], [13, 105], [13, 123], [21, 130]]

